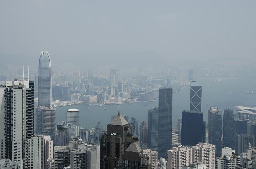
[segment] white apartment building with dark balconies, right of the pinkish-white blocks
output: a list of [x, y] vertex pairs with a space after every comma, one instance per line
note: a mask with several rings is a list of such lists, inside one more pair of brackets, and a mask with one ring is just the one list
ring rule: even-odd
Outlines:
[[240, 155], [235, 154], [232, 148], [222, 148], [222, 157], [215, 159], [216, 169], [235, 169], [235, 166], [240, 165]]

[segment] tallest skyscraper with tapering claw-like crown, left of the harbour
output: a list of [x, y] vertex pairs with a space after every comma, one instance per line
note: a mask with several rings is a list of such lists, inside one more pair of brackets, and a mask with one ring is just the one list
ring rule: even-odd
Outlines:
[[38, 66], [38, 106], [52, 106], [52, 73], [50, 56], [42, 51]]

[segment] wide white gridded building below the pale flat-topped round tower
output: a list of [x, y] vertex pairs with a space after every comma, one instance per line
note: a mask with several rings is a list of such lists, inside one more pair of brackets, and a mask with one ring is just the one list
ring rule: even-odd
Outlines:
[[75, 126], [68, 122], [60, 122], [57, 124], [57, 132], [58, 135], [60, 132], [66, 133], [66, 145], [69, 144], [69, 141], [71, 141], [71, 137], [73, 136], [79, 136], [79, 126]]

